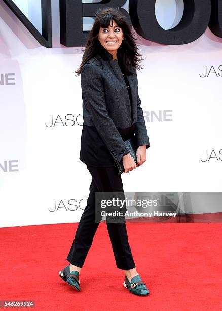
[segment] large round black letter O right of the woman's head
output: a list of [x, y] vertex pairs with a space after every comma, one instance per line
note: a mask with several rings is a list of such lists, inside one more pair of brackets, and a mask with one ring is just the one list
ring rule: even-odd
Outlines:
[[210, 0], [185, 0], [181, 21], [169, 30], [164, 30], [158, 24], [155, 3], [156, 0], [129, 0], [132, 25], [143, 38], [178, 45], [190, 43], [205, 32], [210, 20]]

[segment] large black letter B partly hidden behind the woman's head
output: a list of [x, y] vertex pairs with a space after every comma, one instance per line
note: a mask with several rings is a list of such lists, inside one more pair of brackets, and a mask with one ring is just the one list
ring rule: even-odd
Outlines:
[[83, 31], [83, 17], [94, 17], [98, 8], [119, 8], [130, 24], [126, 10], [121, 8], [126, 0], [102, 0], [99, 3], [82, 3], [82, 0], [60, 0], [60, 42], [74, 47], [86, 45], [89, 32]]

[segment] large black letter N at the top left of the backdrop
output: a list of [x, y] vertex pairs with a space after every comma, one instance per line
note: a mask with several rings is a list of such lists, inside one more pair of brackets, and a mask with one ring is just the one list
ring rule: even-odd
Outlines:
[[20, 19], [34, 38], [45, 47], [52, 47], [52, 12], [51, 0], [41, 0], [42, 5], [42, 34], [35, 28], [30, 20], [14, 4], [12, 0], [3, 0], [12, 12]]

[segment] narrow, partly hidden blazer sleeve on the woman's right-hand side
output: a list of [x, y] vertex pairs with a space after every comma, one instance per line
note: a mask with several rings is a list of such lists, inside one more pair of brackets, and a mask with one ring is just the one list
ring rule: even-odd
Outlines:
[[141, 107], [141, 100], [139, 98], [137, 73], [136, 73], [136, 85], [137, 85], [137, 122], [136, 122], [135, 135], [137, 147], [146, 145], [146, 149], [148, 149], [150, 147], [150, 142], [147, 134], [147, 129], [145, 126], [143, 110]]

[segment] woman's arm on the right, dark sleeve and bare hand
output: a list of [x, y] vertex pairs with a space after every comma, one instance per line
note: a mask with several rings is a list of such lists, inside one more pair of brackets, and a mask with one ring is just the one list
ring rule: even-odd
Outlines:
[[136, 142], [137, 142], [137, 164], [141, 165], [146, 161], [146, 149], [150, 147], [149, 137], [147, 134], [147, 129], [145, 126], [145, 120], [143, 116], [143, 110], [141, 107], [141, 100], [139, 98], [138, 92], [138, 79], [136, 76], [136, 84], [137, 84], [137, 121], [136, 121]]

